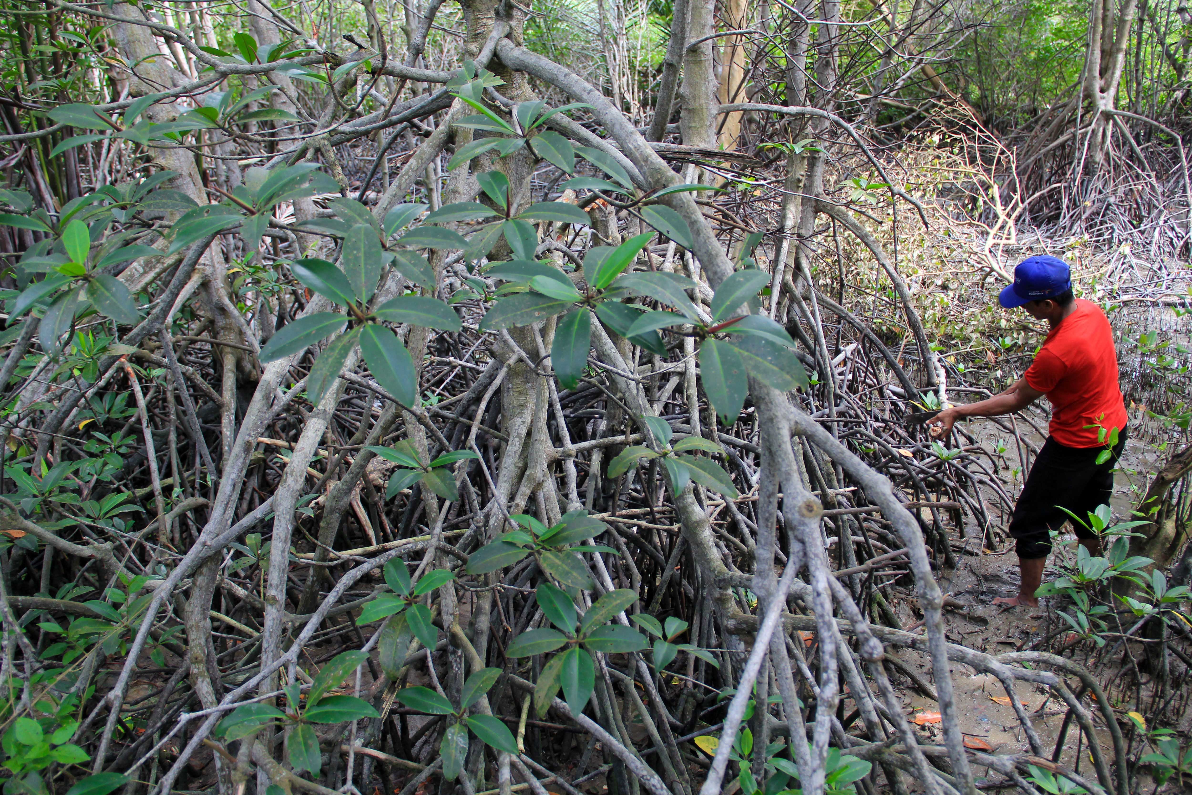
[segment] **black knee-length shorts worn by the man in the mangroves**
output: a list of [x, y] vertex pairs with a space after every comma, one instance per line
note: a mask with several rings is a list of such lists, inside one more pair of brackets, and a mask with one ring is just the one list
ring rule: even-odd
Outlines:
[[[1051, 552], [1051, 530], [1058, 530], [1072, 518], [1063, 508], [1087, 522], [1089, 511], [1110, 502], [1113, 467], [1125, 447], [1125, 437], [1123, 428], [1113, 455], [1104, 464], [1097, 462], [1104, 447], [1066, 447], [1047, 437], [1010, 520], [1010, 535], [1017, 541], [1019, 558], [1045, 558]], [[1078, 539], [1094, 538], [1082, 524], [1073, 522], [1073, 527]]]

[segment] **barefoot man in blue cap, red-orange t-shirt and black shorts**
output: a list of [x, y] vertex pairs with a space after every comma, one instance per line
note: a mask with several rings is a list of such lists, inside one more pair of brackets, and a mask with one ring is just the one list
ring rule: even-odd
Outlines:
[[[931, 434], [951, 430], [961, 417], [995, 417], [1025, 409], [1047, 395], [1051, 403], [1050, 435], [1035, 459], [1010, 520], [1016, 539], [1022, 585], [1018, 596], [997, 598], [994, 604], [1036, 607], [1035, 591], [1043, 582], [1043, 567], [1051, 551], [1053, 530], [1069, 516], [1081, 520], [1098, 505], [1109, 503], [1113, 491], [1113, 467], [1125, 446], [1126, 412], [1118, 386], [1113, 331], [1095, 305], [1073, 298], [1068, 265], [1054, 256], [1032, 256], [1014, 268], [1014, 284], [1001, 291], [1006, 309], [1022, 306], [1051, 331], [1035, 361], [1013, 386], [987, 400], [940, 411]], [[1103, 462], [1112, 431], [1117, 443]], [[1089, 554], [1099, 555], [1100, 540], [1081, 524], [1076, 539]]]

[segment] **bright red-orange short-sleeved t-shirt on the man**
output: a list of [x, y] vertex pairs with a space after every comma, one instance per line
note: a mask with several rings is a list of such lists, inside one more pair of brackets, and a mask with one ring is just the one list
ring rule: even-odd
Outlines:
[[1050, 400], [1051, 436], [1064, 447], [1101, 447], [1098, 423], [1125, 429], [1113, 330], [1097, 304], [1078, 298], [1076, 309], [1047, 335], [1024, 377]]

